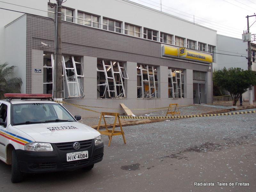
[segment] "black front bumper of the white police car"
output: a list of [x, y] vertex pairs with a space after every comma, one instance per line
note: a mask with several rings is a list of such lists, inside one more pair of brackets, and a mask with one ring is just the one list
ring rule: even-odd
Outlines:
[[43, 173], [58, 171], [73, 171], [98, 163], [103, 159], [103, 143], [95, 146], [92, 140], [91, 146], [77, 151], [88, 151], [88, 158], [76, 161], [67, 161], [67, 153], [77, 152], [71, 149], [60, 149], [52, 144], [53, 151], [36, 152], [18, 149], [17, 156], [20, 171], [25, 173]]

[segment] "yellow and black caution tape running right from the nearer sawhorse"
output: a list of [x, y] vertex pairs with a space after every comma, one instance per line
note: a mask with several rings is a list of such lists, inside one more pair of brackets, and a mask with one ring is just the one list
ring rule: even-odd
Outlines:
[[174, 119], [174, 118], [191, 118], [191, 117], [211, 117], [211, 116], [224, 116], [224, 115], [238, 115], [238, 114], [248, 114], [248, 113], [256, 113], [254, 111], [241, 111], [241, 112], [233, 112], [233, 113], [217, 113], [217, 114], [204, 114], [204, 115], [185, 115], [185, 116], [119, 116], [121, 119]]

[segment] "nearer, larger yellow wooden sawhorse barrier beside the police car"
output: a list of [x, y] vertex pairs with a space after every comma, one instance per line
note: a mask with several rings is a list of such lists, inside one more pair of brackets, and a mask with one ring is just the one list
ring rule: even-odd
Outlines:
[[[112, 128], [112, 129], [108, 129], [107, 123], [106, 123], [106, 119], [105, 119], [105, 115], [115, 116], [115, 121], [114, 121], [114, 124], [113, 124], [113, 128]], [[100, 129], [101, 117], [103, 117], [104, 124], [105, 124], [105, 127], [106, 127], [106, 130], [104, 130], [104, 131], [100, 131], [100, 130], [99, 130], [99, 129]], [[119, 126], [120, 126], [121, 131], [115, 130], [115, 127], [116, 127], [116, 120], [117, 120], [117, 119], [118, 119], [118, 122], [119, 122]], [[123, 135], [124, 144], [126, 144], [126, 140], [125, 140], [125, 137], [124, 137], [124, 131], [123, 131], [122, 124], [121, 124], [121, 121], [120, 121], [120, 118], [119, 118], [119, 113], [101, 112], [101, 113], [100, 113], [100, 121], [99, 121], [99, 124], [98, 124], [97, 131], [100, 132], [100, 134], [102, 134], [102, 135], [108, 135], [108, 139], [109, 139], [108, 147], [110, 146], [112, 137], [113, 137], [114, 135]]]

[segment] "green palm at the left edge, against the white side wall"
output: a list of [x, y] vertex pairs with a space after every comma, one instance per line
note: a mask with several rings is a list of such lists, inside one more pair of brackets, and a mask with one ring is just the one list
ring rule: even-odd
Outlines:
[[0, 63], [0, 99], [4, 99], [4, 93], [20, 93], [22, 80], [15, 76], [15, 66]]

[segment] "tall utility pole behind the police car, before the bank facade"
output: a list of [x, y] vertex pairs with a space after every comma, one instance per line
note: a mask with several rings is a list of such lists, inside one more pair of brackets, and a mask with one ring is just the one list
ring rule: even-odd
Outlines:
[[56, 80], [55, 80], [55, 88], [56, 88], [56, 94], [55, 98], [60, 99], [62, 98], [62, 50], [61, 50], [61, 4], [63, 0], [56, 0], [57, 1], [57, 8], [56, 8], [56, 14], [57, 14], [57, 25], [56, 25]]

